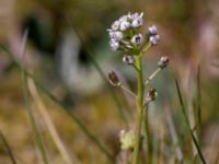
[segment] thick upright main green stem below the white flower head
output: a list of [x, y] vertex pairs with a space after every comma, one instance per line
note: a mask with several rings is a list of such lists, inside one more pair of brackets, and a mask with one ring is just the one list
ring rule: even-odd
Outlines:
[[136, 97], [136, 105], [138, 109], [137, 127], [136, 127], [136, 144], [134, 148], [132, 164], [138, 163], [139, 152], [140, 152], [140, 139], [141, 139], [141, 122], [142, 122], [142, 112], [143, 112], [143, 75], [142, 75], [142, 65], [140, 55], [136, 58], [136, 67], [138, 68], [138, 95]]

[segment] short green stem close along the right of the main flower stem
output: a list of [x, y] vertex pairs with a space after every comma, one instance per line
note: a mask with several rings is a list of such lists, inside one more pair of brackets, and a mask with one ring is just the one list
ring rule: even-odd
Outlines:
[[146, 145], [147, 145], [147, 164], [151, 164], [152, 162], [152, 142], [151, 142], [151, 134], [149, 128], [149, 115], [148, 115], [149, 106], [146, 105], [143, 109], [143, 128], [145, 128], [145, 138], [146, 138]]

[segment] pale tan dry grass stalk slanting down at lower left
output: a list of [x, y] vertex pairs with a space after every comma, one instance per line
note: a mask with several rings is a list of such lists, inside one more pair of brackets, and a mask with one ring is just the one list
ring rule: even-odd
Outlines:
[[[56, 147], [58, 148], [58, 151], [60, 153], [60, 155], [62, 156], [64, 161], [66, 164], [72, 164], [72, 161], [71, 161], [71, 155], [69, 154], [69, 152], [67, 151], [66, 147], [64, 145], [57, 130], [56, 130], [56, 127], [54, 126], [53, 124], [53, 120], [35, 87], [35, 84], [33, 82], [32, 79], [27, 79], [27, 82], [28, 82], [28, 89], [30, 89], [30, 92], [32, 94], [32, 96], [34, 97], [35, 99], [35, 103], [37, 105], [37, 108], [41, 113], [41, 115], [43, 116], [45, 122], [46, 122], [46, 126], [48, 128], [48, 131], [50, 132], [50, 136], [56, 144]], [[72, 153], [71, 153], [72, 154]], [[78, 160], [76, 159], [76, 156], [73, 157], [74, 159], [74, 164], [78, 164]]]

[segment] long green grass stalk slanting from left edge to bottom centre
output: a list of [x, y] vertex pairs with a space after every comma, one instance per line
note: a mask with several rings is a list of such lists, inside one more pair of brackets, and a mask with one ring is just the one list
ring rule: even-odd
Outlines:
[[5, 48], [1, 47], [2, 51], [4, 52], [4, 55], [8, 55], [14, 62], [14, 65], [24, 72], [25, 75], [30, 77], [31, 79], [33, 79], [35, 85], [42, 90], [42, 92], [44, 92], [54, 103], [56, 103], [57, 105], [59, 105], [61, 107], [61, 109], [64, 109], [66, 112], [66, 114], [71, 118], [71, 120], [79, 127], [79, 129], [99, 148], [99, 150], [111, 161], [114, 162], [114, 157], [111, 155], [111, 153], [106, 150], [106, 148], [99, 141], [99, 139], [93, 136], [89, 129], [79, 120], [79, 118], [77, 118], [71, 112], [70, 109], [62, 104], [61, 102], [59, 102], [44, 85], [42, 85], [35, 78], [33, 74], [31, 74], [28, 71], [26, 71], [25, 69], [23, 69], [23, 67], [16, 61], [16, 59], [14, 59], [13, 55], [10, 54]]

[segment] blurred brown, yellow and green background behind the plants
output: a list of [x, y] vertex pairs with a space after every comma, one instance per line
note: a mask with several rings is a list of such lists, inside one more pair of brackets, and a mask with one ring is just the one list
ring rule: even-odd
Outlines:
[[[174, 80], [178, 79], [186, 106], [197, 105], [197, 68], [200, 68], [204, 153], [210, 163], [219, 162], [219, 1], [217, 0], [1, 0], [0, 44], [31, 71], [59, 101], [91, 130], [116, 157], [119, 130], [127, 129], [112, 97], [131, 122], [135, 99], [108, 86], [104, 75], [112, 69], [124, 83], [135, 89], [135, 72], [122, 62], [123, 55], [108, 46], [107, 28], [128, 12], [145, 12], [142, 33], [158, 26], [161, 40], [143, 57], [145, 77], [157, 68], [161, 56], [170, 57], [170, 67], [153, 81], [158, 101], [151, 105], [154, 133], [163, 144], [164, 159], [171, 159], [165, 116], [173, 116], [185, 154], [189, 154], [188, 133], [178, 106]], [[28, 31], [25, 60], [23, 35]], [[110, 87], [110, 90], [108, 90]], [[107, 163], [96, 147], [47, 96], [41, 97], [73, 163]], [[32, 103], [49, 161], [64, 163], [44, 119]], [[7, 138], [19, 163], [38, 164], [39, 154], [24, 109], [20, 71], [0, 52], [0, 131]], [[131, 124], [130, 124], [131, 126]], [[162, 149], [162, 148], [161, 148]], [[0, 144], [0, 164], [11, 163]], [[161, 162], [162, 163], [162, 162]], [[166, 163], [171, 163], [170, 161]]]

